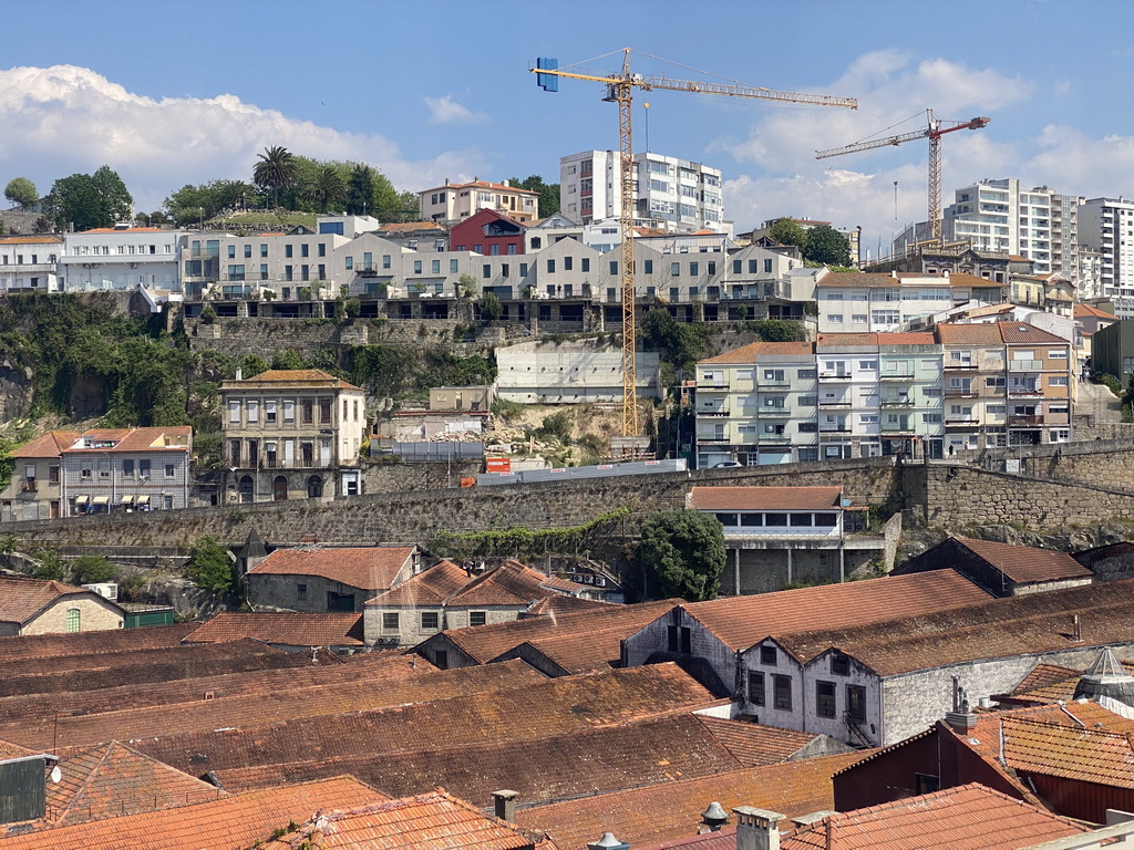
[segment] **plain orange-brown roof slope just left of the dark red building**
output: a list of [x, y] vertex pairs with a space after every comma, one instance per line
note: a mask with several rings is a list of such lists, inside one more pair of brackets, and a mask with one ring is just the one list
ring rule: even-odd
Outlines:
[[687, 836], [696, 830], [701, 813], [712, 800], [726, 811], [736, 806], [758, 806], [793, 817], [833, 808], [831, 775], [862, 757], [855, 753], [746, 767], [535, 806], [519, 809], [516, 823], [547, 831], [565, 850], [579, 850], [608, 830], [634, 847]]

